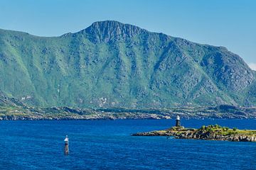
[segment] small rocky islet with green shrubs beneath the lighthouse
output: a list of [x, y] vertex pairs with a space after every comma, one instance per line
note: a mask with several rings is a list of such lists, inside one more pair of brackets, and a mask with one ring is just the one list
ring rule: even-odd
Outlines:
[[179, 126], [167, 130], [138, 132], [132, 136], [173, 136], [176, 139], [256, 142], [256, 130], [238, 130], [238, 128], [221, 127], [220, 125], [203, 125], [199, 129]]

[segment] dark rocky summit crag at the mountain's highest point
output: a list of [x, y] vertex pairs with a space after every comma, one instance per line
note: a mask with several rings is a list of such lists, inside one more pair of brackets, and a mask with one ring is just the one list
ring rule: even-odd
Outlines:
[[113, 40], [132, 38], [146, 30], [137, 26], [120, 23], [118, 21], [97, 21], [82, 30], [82, 33], [90, 35], [92, 42], [111, 42]]

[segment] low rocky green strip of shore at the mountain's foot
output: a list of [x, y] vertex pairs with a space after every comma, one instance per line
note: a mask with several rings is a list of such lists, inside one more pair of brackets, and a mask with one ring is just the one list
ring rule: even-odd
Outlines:
[[236, 118], [255, 119], [256, 108], [239, 106], [180, 107], [180, 108], [40, 108], [26, 105], [0, 105], [0, 120], [116, 120], [116, 119], [172, 119]]

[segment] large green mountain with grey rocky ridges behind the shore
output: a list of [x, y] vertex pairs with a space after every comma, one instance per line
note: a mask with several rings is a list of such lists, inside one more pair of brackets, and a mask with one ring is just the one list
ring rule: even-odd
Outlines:
[[50, 38], [0, 30], [0, 81], [28, 106], [256, 106], [256, 72], [225, 47], [117, 21]]

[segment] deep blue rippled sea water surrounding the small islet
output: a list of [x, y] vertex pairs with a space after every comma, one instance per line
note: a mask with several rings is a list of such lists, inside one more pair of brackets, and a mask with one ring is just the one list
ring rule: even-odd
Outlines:
[[[256, 129], [256, 120], [182, 120]], [[255, 142], [134, 137], [174, 120], [1, 121], [0, 169], [256, 169]], [[64, 138], [70, 154], [63, 154]]]

